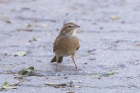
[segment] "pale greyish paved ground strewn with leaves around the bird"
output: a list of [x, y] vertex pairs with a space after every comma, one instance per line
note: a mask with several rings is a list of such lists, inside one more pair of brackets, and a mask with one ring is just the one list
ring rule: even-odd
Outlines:
[[[139, 4], [139, 0], [0, 0], [0, 85], [22, 81], [17, 89], [0, 92], [140, 93]], [[58, 71], [50, 63], [52, 43], [65, 22], [81, 26], [78, 71], [70, 57]], [[21, 51], [28, 53], [14, 56]], [[15, 78], [14, 73], [30, 66], [39, 75]], [[71, 87], [44, 85], [70, 81]]]

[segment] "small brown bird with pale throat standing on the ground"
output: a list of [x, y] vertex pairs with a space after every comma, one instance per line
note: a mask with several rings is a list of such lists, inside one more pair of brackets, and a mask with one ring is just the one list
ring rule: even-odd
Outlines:
[[56, 62], [56, 70], [58, 63], [62, 63], [63, 57], [71, 56], [72, 61], [75, 64], [76, 69], [78, 69], [75, 63], [75, 53], [80, 48], [80, 42], [76, 36], [77, 29], [80, 28], [73, 22], [68, 22], [63, 25], [60, 33], [56, 37], [53, 43], [53, 52], [55, 56], [52, 58], [52, 62]]

